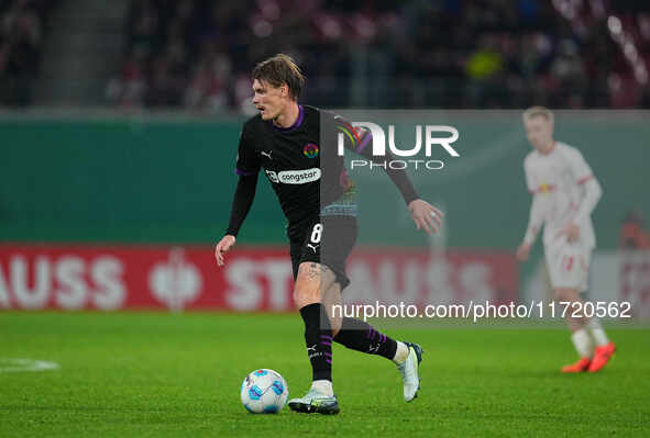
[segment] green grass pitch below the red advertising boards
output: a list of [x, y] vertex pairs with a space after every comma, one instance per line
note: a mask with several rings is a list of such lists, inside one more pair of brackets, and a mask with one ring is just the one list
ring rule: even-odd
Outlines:
[[650, 332], [609, 333], [603, 372], [562, 375], [566, 330], [392, 329], [426, 349], [412, 403], [390, 362], [335, 346], [340, 415], [252, 415], [239, 389], [256, 368], [308, 389], [297, 314], [2, 312], [0, 368], [59, 369], [0, 372], [0, 437], [650, 436]]

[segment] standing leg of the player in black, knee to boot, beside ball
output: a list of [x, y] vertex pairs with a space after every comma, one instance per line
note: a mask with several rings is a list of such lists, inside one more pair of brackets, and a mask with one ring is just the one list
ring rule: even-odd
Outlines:
[[323, 265], [300, 263], [294, 288], [294, 302], [305, 322], [305, 342], [312, 369], [309, 392], [289, 400], [289, 408], [302, 413], [335, 415], [339, 403], [332, 389], [332, 326], [321, 304], [323, 291], [335, 281], [334, 273]]

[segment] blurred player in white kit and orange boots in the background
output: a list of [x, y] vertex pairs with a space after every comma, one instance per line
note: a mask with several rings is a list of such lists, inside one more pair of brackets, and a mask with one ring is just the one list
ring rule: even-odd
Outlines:
[[607, 364], [616, 346], [596, 319], [584, 316], [580, 292], [587, 289], [590, 259], [596, 246], [591, 214], [603, 191], [580, 150], [553, 139], [550, 110], [543, 106], [526, 110], [524, 125], [533, 148], [524, 160], [532, 205], [517, 258], [528, 259], [543, 225], [551, 285], [555, 300], [572, 303], [566, 322], [580, 356], [577, 362], [562, 367], [562, 372], [596, 372]]

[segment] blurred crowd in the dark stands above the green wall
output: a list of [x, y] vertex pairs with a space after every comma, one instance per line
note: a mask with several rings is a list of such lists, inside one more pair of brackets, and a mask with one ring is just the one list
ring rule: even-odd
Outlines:
[[[37, 71], [53, 3], [0, 0], [4, 93]], [[120, 108], [246, 110], [252, 66], [278, 52], [322, 106], [650, 108], [649, 2], [131, 0], [124, 22]]]

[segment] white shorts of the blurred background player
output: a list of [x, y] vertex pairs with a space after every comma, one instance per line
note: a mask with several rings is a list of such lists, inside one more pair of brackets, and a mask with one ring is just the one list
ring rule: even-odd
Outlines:
[[544, 256], [553, 289], [587, 290], [592, 248], [580, 243], [558, 243], [544, 246]]

